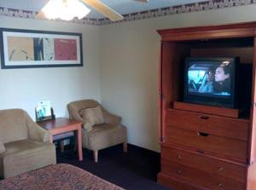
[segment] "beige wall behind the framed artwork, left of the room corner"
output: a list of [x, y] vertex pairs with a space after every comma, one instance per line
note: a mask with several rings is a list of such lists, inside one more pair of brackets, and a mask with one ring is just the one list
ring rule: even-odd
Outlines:
[[0, 109], [19, 107], [35, 118], [38, 101], [51, 101], [57, 117], [67, 103], [81, 98], [100, 101], [99, 27], [0, 16], [0, 27], [83, 33], [83, 67], [0, 69]]

